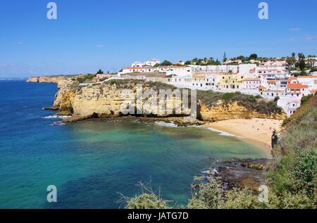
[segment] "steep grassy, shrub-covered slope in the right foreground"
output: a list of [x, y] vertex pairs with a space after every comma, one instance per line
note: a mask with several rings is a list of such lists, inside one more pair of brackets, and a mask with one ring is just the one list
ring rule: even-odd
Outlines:
[[317, 204], [317, 94], [285, 122], [287, 131], [273, 149], [274, 167], [268, 174], [272, 189]]

